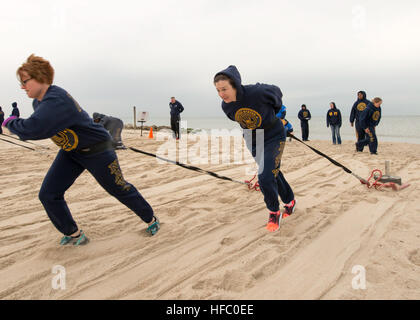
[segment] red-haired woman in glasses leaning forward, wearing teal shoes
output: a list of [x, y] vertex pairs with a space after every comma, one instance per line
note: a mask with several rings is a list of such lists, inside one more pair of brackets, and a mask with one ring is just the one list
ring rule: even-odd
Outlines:
[[54, 69], [38, 56], [30, 55], [17, 70], [21, 88], [33, 99], [34, 112], [27, 119], [11, 116], [3, 122], [22, 140], [51, 138], [61, 148], [41, 186], [39, 199], [53, 225], [64, 236], [60, 244], [88, 242], [70, 213], [64, 193], [86, 169], [98, 183], [134, 211], [155, 234], [159, 220], [152, 207], [121, 172], [111, 136], [80, 107], [64, 89], [53, 85]]

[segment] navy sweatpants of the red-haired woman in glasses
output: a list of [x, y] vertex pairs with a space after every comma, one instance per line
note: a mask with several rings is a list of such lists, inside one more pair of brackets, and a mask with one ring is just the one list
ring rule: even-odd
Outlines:
[[39, 199], [58, 231], [68, 236], [78, 229], [64, 200], [64, 193], [85, 169], [110, 195], [130, 208], [144, 222], [152, 221], [152, 207], [133, 185], [124, 180], [114, 150], [93, 155], [60, 150], [39, 191]]

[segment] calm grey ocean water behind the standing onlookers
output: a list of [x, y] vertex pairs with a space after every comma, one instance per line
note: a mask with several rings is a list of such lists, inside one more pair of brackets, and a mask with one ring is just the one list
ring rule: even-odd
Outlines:
[[[209, 131], [211, 129], [238, 129], [236, 122], [228, 118], [188, 118], [182, 117], [185, 128], [201, 129]], [[287, 117], [293, 125], [294, 135], [302, 137], [300, 121], [297, 117]], [[133, 119], [123, 119], [124, 123], [133, 123]], [[169, 117], [153, 117], [145, 125], [170, 126]], [[340, 130], [342, 140], [355, 140], [355, 128], [350, 126], [348, 118], [343, 119]], [[420, 144], [420, 116], [383, 116], [379, 126], [376, 128], [379, 143], [381, 141], [406, 142]], [[309, 121], [309, 140], [332, 140], [331, 129], [327, 128], [325, 116], [313, 116]]]

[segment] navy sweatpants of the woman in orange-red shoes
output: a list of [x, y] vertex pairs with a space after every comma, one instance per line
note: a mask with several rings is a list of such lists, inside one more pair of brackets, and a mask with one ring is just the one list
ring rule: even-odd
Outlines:
[[281, 122], [270, 130], [258, 130], [254, 136], [259, 134], [264, 134], [264, 150], [257, 145], [262, 139], [257, 137], [255, 143], [255, 140], [250, 138], [251, 134], [246, 134], [244, 137], [248, 149], [259, 166], [258, 182], [264, 195], [264, 202], [268, 210], [276, 212], [280, 208], [279, 196], [284, 203], [289, 203], [295, 198], [292, 188], [280, 171], [286, 134]]

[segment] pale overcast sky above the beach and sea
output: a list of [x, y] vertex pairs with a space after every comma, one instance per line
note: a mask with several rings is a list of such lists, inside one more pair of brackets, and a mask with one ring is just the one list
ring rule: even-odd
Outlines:
[[384, 115], [420, 115], [419, 13], [418, 0], [2, 1], [0, 106], [32, 113], [16, 69], [35, 53], [89, 114], [167, 116], [175, 96], [184, 118], [223, 117], [212, 79], [234, 64], [244, 84], [278, 85], [288, 117], [330, 101], [346, 116], [358, 90]]

